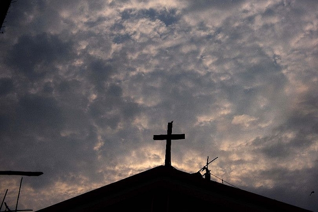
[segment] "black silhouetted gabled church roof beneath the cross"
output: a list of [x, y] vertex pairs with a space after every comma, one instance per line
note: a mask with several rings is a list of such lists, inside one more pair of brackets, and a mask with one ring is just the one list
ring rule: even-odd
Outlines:
[[107, 211], [297, 211], [286, 203], [186, 173], [172, 166], [158, 166], [111, 183], [38, 212]]

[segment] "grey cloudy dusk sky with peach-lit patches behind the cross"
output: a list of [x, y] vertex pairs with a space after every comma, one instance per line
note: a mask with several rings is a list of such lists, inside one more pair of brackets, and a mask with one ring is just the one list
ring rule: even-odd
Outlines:
[[[0, 170], [38, 210], [164, 164], [318, 211], [316, 0], [18, 0], [0, 34]], [[20, 176], [0, 176], [15, 208]], [[218, 178], [212, 180], [220, 182]], [[317, 191], [316, 194], [311, 194]], [[3, 209], [3, 208], [2, 208]]]

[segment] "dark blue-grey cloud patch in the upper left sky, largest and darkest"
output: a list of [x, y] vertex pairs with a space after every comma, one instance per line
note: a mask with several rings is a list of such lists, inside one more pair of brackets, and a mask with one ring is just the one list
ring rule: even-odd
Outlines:
[[67, 61], [69, 54], [72, 54], [72, 43], [63, 42], [56, 35], [24, 35], [10, 51], [7, 64], [30, 80], [37, 80], [57, 71], [54, 64]]

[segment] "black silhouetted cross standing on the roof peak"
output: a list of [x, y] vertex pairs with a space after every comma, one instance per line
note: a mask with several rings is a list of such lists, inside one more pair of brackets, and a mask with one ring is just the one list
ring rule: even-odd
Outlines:
[[[173, 122], [173, 121], [172, 121]], [[171, 166], [171, 140], [185, 139], [184, 134], [172, 134], [172, 122], [168, 123], [166, 135], [155, 135], [154, 140], [166, 140], [164, 165]]]

